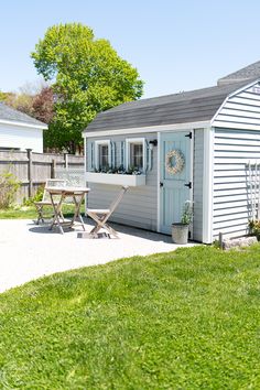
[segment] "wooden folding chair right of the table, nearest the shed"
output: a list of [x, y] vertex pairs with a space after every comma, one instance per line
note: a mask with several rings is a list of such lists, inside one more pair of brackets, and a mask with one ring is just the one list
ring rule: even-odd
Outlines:
[[96, 223], [96, 226], [91, 229], [91, 231], [88, 234], [89, 238], [97, 238], [98, 237], [98, 231], [100, 229], [106, 229], [109, 235], [115, 236], [118, 238], [118, 234], [115, 229], [111, 228], [107, 224], [108, 218], [112, 215], [119, 203], [121, 202], [124, 193], [128, 191], [128, 186], [123, 186], [119, 193], [119, 195], [116, 197], [116, 199], [111, 203], [109, 208], [105, 209], [96, 209], [96, 208], [87, 208], [86, 214], [93, 218]]

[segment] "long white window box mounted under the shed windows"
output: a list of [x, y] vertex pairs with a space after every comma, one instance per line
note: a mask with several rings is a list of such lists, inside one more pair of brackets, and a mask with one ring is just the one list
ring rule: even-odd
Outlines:
[[137, 187], [139, 185], [145, 185], [145, 175], [86, 172], [86, 182], [89, 183], [129, 185], [130, 187]]

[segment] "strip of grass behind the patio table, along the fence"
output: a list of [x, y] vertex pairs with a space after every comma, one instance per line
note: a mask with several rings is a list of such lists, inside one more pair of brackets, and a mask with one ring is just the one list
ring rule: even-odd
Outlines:
[[[63, 205], [63, 212], [65, 217], [71, 217], [74, 213], [73, 205]], [[80, 207], [80, 212], [84, 213], [84, 205]], [[53, 215], [53, 208], [50, 206], [44, 208], [44, 215]], [[37, 213], [35, 206], [15, 206], [7, 209], [0, 209], [0, 219], [36, 219]]]

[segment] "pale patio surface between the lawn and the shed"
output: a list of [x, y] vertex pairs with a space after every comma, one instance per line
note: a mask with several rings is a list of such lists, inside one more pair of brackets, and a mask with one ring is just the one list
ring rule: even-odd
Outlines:
[[[131, 257], [167, 252], [171, 237], [113, 225], [120, 239], [83, 239], [75, 230], [61, 235], [32, 220], [0, 219], [0, 292], [55, 272], [104, 264]], [[91, 226], [86, 224], [86, 230]], [[82, 231], [82, 228], [78, 228]], [[193, 246], [188, 243], [187, 246]]]

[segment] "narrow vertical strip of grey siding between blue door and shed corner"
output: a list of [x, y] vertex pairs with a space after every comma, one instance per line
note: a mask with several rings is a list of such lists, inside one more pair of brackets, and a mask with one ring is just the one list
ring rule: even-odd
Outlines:
[[194, 180], [193, 180], [193, 239], [203, 241], [203, 159], [204, 159], [204, 129], [194, 131]]

